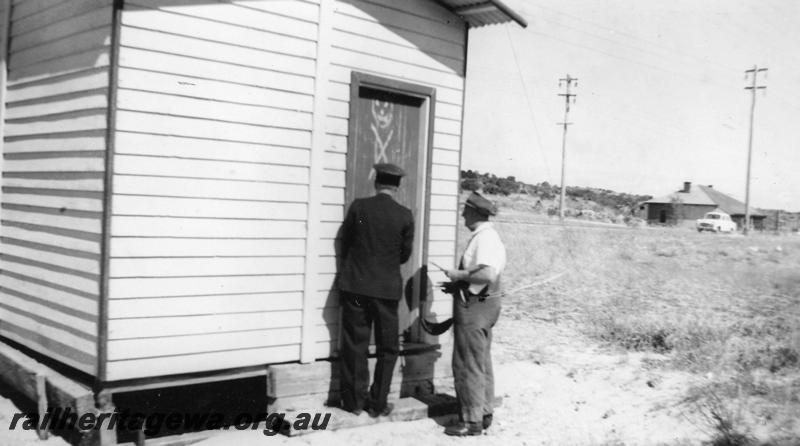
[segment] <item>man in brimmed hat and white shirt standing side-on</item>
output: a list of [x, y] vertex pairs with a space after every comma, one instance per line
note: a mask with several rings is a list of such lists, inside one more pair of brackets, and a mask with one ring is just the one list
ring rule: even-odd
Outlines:
[[447, 435], [481, 435], [492, 423], [494, 375], [492, 327], [500, 316], [500, 276], [506, 266], [506, 249], [489, 222], [494, 204], [473, 192], [461, 214], [472, 237], [458, 269], [445, 272], [460, 292], [453, 299], [453, 380], [461, 410], [461, 423]]

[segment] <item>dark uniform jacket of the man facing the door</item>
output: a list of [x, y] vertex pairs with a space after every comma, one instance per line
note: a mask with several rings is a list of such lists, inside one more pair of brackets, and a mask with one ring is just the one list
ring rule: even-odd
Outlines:
[[414, 217], [384, 193], [353, 201], [342, 224], [339, 289], [399, 300], [400, 265], [411, 256]]

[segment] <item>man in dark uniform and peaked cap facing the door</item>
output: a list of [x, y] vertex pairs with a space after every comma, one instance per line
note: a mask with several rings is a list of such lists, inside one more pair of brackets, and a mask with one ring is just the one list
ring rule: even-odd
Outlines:
[[[376, 194], [353, 201], [341, 231], [342, 407], [355, 414], [388, 415], [392, 373], [399, 353], [397, 306], [403, 294], [400, 265], [411, 256], [414, 218], [395, 201], [403, 169], [376, 164]], [[367, 354], [375, 324], [377, 364], [369, 385]]]

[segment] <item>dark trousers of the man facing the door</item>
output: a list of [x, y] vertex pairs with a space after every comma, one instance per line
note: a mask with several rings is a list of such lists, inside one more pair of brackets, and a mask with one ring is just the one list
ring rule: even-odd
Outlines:
[[[364, 407], [383, 410], [392, 373], [397, 363], [400, 339], [397, 300], [378, 299], [342, 291], [342, 351], [339, 382], [342, 407], [353, 411]], [[369, 385], [369, 338], [375, 324], [377, 363], [372, 387]]]

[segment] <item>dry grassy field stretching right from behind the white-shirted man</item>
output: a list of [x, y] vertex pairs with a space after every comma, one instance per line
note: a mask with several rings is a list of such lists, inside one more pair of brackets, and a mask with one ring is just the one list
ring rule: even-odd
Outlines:
[[[520, 217], [524, 208], [514, 203], [501, 217]], [[687, 395], [698, 404], [695, 418], [716, 423], [715, 444], [767, 444], [743, 428], [756, 425], [772, 428], [759, 433], [769, 444], [800, 441], [780, 440], [781, 429], [796, 432], [800, 420], [800, 237], [512, 220], [528, 223], [497, 223], [508, 249], [507, 289], [568, 273], [506, 298], [508, 317], [545, 315], [602, 344], [661, 353], [668, 367], [709, 377]], [[462, 229], [462, 247], [467, 237]], [[746, 416], [731, 417], [731, 407]]]

